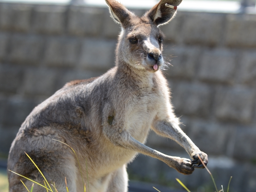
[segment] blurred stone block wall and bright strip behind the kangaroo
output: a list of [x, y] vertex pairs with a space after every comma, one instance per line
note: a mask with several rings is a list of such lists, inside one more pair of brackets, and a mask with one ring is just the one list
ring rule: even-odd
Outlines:
[[[141, 16], [157, 0], [123, 0]], [[181, 128], [209, 156], [219, 190], [256, 191], [255, 0], [183, 0], [162, 26], [164, 71]], [[6, 158], [31, 110], [66, 82], [99, 76], [114, 66], [120, 26], [104, 0], [0, 0], [0, 191], [6, 191]], [[100, 54], [99, 54], [100, 53]], [[154, 132], [147, 145], [188, 157]], [[163, 162], [139, 155], [130, 180], [191, 191], [214, 191], [204, 170], [184, 176]]]

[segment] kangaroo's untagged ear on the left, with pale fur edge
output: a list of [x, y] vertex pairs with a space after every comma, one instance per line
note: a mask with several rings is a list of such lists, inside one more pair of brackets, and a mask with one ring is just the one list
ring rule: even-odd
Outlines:
[[111, 17], [120, 23], [124, 28], [130, 24], [130, 19], [134, 15], [124, 5], [115, 0], [105, 0], [109, 7]]

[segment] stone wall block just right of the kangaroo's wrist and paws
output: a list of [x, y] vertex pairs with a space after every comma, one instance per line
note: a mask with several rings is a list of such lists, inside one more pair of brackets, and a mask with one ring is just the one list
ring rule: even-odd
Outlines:
[[227, 125], [194, 121], [188, 132], [189, 138], [207, 154], [226, 155], [232, 129]]

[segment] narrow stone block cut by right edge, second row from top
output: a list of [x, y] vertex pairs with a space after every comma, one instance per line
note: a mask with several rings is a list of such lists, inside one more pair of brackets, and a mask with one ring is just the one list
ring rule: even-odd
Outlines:
[[239, 79], [242, 83], [256, 83], [256, 54], [255, 51], [244, 52], [240, 61]]

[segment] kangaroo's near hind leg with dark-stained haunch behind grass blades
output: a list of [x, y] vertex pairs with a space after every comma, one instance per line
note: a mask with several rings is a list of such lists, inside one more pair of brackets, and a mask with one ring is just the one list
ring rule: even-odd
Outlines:
[[[41, 142], [40, 148], [34, 147], [36, 146], [34, 144], [35, 140], [37, 140], [38, 143]], [[24, 148], [16, 148], [17, 145], [21, 144], [21, 141], [19, 140], [13, 144], [13, 148], [9, 154], [8, 169], [44, 185], [43, 176], [24, 153], [24, 151], [26, 151], [44, 174], [44, 177], [48, 181], [52, 191], [55, 191], [54, 187], [51, 185], [54, 182], [58, 192], [66, 192], [65, 177], [67, 177], [69, 191], [76, 192], [78, 169], [76, 167], [76, 158], [73, 152], [65, 145], [60, 144], [57, 141], [53, 141], [50, 136], [37, 137], [35, 140], [22, 142]], [[14, 156], [16, 158], [14, 158]], [[10, 192], [26, 191], [20, 180], [22, 180], [28, 188], [31, 188], [31, 181], [28, 181], [12, 172], [9, 172], [8, 175]], [[48, 185], [47, 188], [49, 188]], [[34, 185], [33, 192], [45, 191], [46, 189], [42, 186], [37, 184]]]

